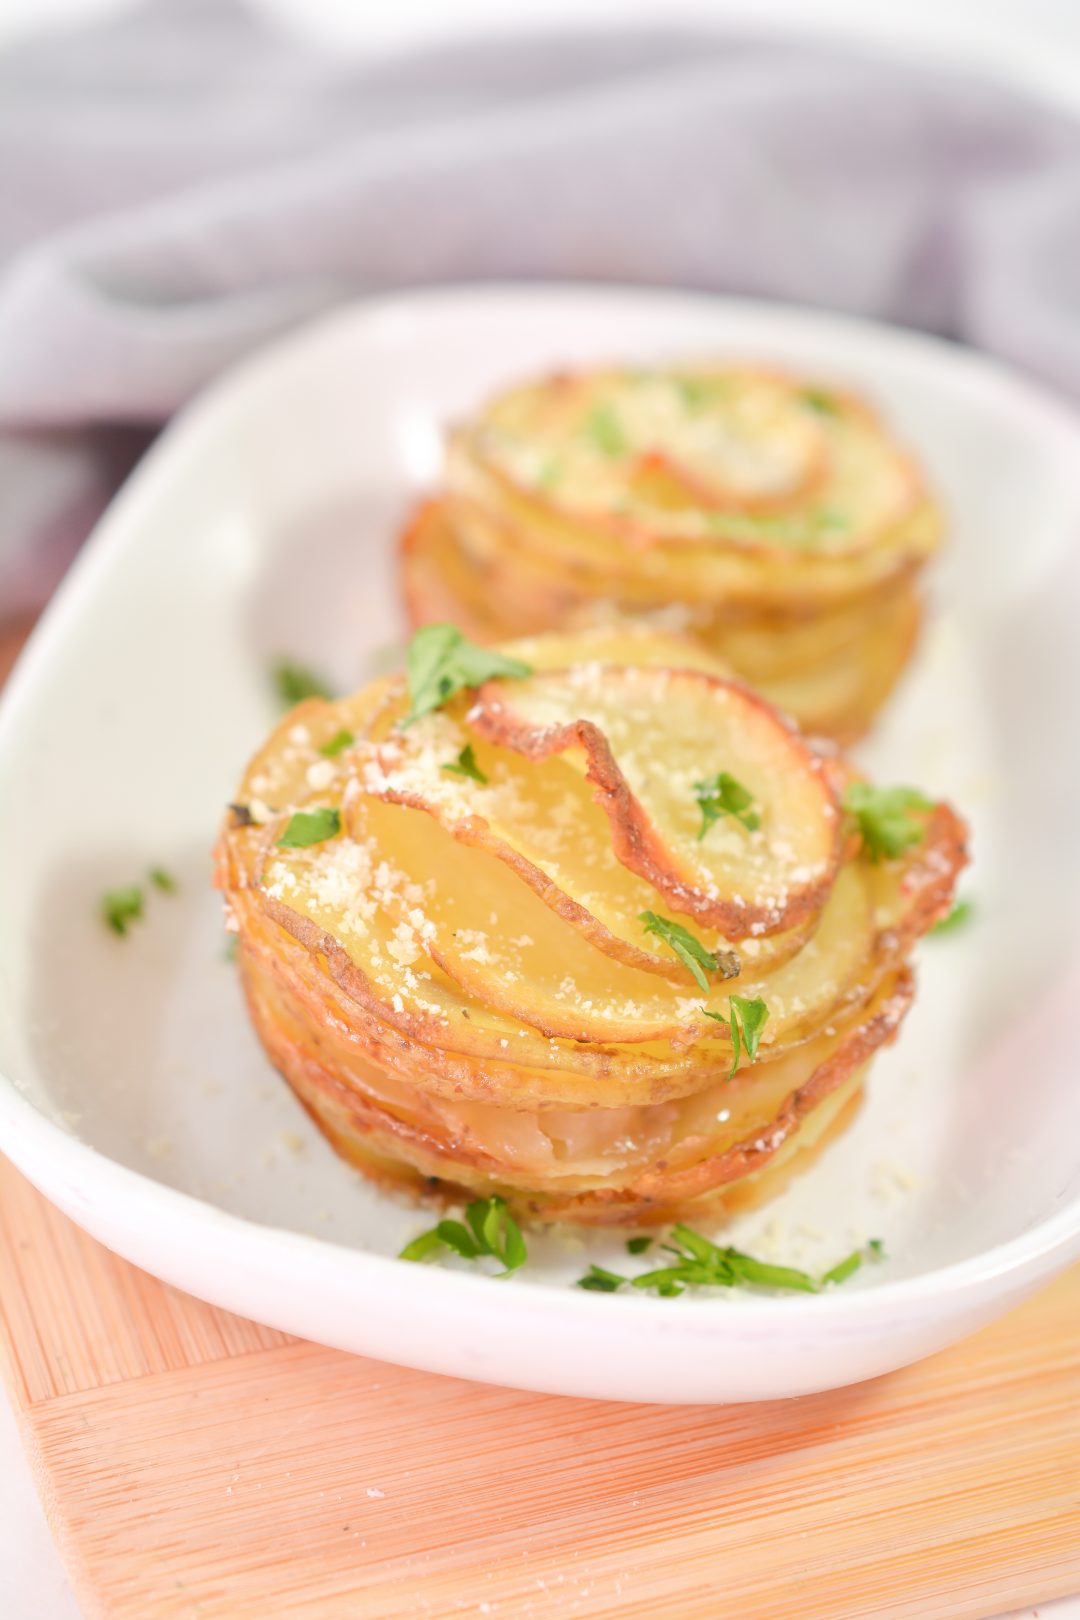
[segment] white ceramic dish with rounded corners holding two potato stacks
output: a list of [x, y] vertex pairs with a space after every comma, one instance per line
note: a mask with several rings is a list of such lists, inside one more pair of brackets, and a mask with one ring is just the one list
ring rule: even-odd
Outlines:
[[[209, 846], [290, 653], [356, 685], [402, 635], [392, 536], [440, 424], [518, 373], [746, 353], [870, 390], [952, 509], [934, 622], [870, 763], [970, 813], [978, 919], [855, 1128], [738, 1239], [886, 1264], [824, 1296], [567, 1286], [615, 1239], [492, 1281], [392, 1259], [427, 1225], [308, 1124], [248, 1030]], [[853, 1382], [986, 1322], [1080, 1254], [1080, 431], [947, 345], [776, 306], [457, 290], [342, 311], [241, 366], [100, 525], [0, 714], [0, 1145], [112, 1249], [288, 1332], [528, 1388], [755, 1400]], [[126, 940], [104, 889], [172, 868]]]

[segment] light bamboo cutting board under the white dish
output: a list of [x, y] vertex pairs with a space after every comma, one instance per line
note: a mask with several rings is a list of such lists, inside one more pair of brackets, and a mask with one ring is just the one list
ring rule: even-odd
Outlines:
[[201, 1304], [0, 1160], [0, 1366], [89, 1620], [973, 1620], [1080, 1589], [1080, 1270], [852, 1390], [560, 1400]]

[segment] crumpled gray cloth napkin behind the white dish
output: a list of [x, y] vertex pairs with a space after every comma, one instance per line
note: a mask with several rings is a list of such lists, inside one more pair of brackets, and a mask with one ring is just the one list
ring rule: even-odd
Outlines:
[[0, 58], [0, 616], [222, 366], [393, 287], [776, 296], [1080, 394], [1080, 125], [857, 50], [657, 29], [355, 63], [165, 0]]

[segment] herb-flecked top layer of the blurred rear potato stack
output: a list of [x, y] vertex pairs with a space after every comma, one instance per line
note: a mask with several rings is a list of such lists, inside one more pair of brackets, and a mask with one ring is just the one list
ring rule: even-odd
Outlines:
[[837, 390], [751, 368], [555, 376], [492, 400], [450, 441], [470, 470], [583, 530], [855, 554], [920, 484], [876, 416]]

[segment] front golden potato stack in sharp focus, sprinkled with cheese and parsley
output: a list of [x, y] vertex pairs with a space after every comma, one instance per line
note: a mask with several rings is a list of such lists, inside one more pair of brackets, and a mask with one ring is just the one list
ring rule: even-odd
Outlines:
[[850, 1111], [963, 836], [687, 640], [432, 625], [408, 682], [279, 726], [217, 870], [256, 1030], [351, 1163], [649, 1223]]

